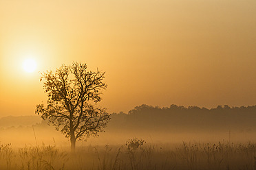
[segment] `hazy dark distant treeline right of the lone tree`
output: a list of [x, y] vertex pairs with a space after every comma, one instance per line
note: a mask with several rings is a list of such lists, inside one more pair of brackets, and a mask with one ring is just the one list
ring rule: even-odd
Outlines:
[[111, 114], [107, 130], [256, 130], [256, 106], [199, 108], [198, 106], [136, 106], [127, 114]]

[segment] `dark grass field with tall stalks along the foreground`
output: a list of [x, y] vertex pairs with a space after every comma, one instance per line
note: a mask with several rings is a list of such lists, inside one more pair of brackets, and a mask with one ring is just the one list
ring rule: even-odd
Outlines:
[[256, 169], [255, 143], [180, 143], [77, 147], [0, 147], [0, 169]]

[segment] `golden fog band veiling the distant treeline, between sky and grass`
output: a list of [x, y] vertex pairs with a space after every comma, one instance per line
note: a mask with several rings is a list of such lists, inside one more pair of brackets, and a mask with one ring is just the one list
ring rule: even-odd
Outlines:
[[[171, 105], [137, 106], [129, 112], [111, 114], [105, 132], [98, 137], [84, 138], [77, 146], [125, 145], [130, 138], [147, 143], [177, 144], [182, 142], [231, 143], [256, 141], [256, 106], [199, 108]], [[39, 116], [2, 117], [1, 143], [14, 147], [25, 145], [56, 145], [70, 147], [70, 141]]]

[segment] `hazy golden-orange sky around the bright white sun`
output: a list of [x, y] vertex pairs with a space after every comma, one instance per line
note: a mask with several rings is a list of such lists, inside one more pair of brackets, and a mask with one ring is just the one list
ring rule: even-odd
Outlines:
[[39, 72], [72, 62], [106, 72], [110, 113], [255, 105], [255, 19], [255, 0], [0, 0], [0, 117], [34, 115]]

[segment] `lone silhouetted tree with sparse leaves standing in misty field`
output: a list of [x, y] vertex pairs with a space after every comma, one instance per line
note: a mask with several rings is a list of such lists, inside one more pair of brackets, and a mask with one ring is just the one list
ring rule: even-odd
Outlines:
[[36, 113], [70, 138], [72, 151], [76, 140], [97, 136], [110, 120], [106, 109], [96, 106], [101, 90], [107, 87], [104, 78], [105, 72], [87, 71], [87, 65], [78, 62], [41, 74], [48, 99], [46, 107], [36, 106]]

